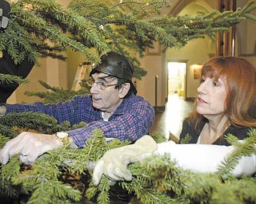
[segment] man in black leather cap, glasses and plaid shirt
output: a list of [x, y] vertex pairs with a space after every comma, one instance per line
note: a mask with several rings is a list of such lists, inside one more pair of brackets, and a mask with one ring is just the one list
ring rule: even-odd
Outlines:
[[95, 128], [101, 128], [106, 139], [136, 141], [150, 131], [154, 120], [154, 108], [141, 96], [132, 82], [134, 66], [118, 53], [106, 53], [101, 64], [91, 73], [91, 89], [88, 96], [75, 96], [74, 99], [58, 104], [2, 104], [0, 115], [10, 112], [44, 112], [54, 116], [58, 123], [65, 120], [70, 124], [86, 122], [82, 128], [54, 135], [22, 132], [6, 143], [0, 152], [2, 164], [11, 155], [20, 154], [23, 163], [33, 164], [38, 156], [46, 151], [62, 146], [62, 137], [70, 137], [74, 147], [82, 148]]

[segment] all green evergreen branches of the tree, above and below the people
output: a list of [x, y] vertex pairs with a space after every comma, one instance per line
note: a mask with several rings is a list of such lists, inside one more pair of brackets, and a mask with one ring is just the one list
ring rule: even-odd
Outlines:
[[[82, 53], [86, 61], [98, 63], [102, 53], [113, 50], [130, 57], [136, 67], [134, 77], [140, 79], [146, 71], [140, 67], [138, 58], [131, 57], [133, 51], [142, 57], [154, 41], [159, 41], [166, 48], [179, 48], [191, 39], [205, 35], [214, 39], [214, 33], [226, 32], [238, 22], [256, 20], [250, 14], [256, 9], [255, 1], [248, 2], [235, 12], [213, 10], [210, 14], [195, 17], [159, 16], [162, 6], [168, 6], [166, 2], [77, 0], [64, 8], [53, 0], [18, 0], [12, 3], [8, 27], [0, 31], [0, 50], [7, 50], [15, 63], [26, 56], [34, 62], [40, 57], [66, 60], [62, 51], [68, 49]], [[17, 77], [0, 75], [0, 81], [11, 80], [24, 82]], [[30, 92], [27, 95], [54, 103], [78, 94], [40, 83], [50, 92]], [[86, 93], [84, 91], [79, 94]], [[0, 147], [18, 135], [21, 129], [51, 134], [83, 125], [70, 127], [69, 122], [57, 124], [54, 118], [38, 113], [12, 113], [0, 117]], [[87, 203], [90, 198], [98, 203], [109, 203], [109, 180], [103, 176], [100, 185], [93, 186], [91, 169], [104, 152], [129, 142], [113, 139], [106, 143], [102, 135], [101, 130], [95, 130], [81, 150], [71, 149], [65, 143], [64, 147], [42, 155], [33, 167], [23, 166], [18, 155], [14, 155], [9, 163], [0, 166], [0, 198], [12, 197], [12, 202], [36, 204]], [[153, 136], [156, 141], [163, 141], [158, 133]], [[154, 155], [142, 163], [131, 164], [129, 169], [134, 179], [118, 182], [117, 185], [146, 204], [255, 203], [255, 176], [234, 179], [230, 171], [242, 155], [255, 154], [253, 144], [256, 132], [250, 131], [249, 138], [242, 144], [234, 136], [229, 135], [227, 139], [234, 144], [235, 151], [223, 161], [217, 174], [183, 171], [170, 161], [170, 155]], [[186, 138], [186, 142], [189, 139]]]

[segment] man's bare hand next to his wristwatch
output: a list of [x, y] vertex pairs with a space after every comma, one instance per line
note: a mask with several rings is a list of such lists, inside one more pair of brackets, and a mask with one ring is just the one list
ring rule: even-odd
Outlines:
[[0, 161], [6, 164], [12, 155], [20, 154], [22, 163], [32, 165], [38, 156], [60, 146], [62, 146], [62, 141], [55, 135], [23, 131], [14, 139], [10, 139], [0, 150]]

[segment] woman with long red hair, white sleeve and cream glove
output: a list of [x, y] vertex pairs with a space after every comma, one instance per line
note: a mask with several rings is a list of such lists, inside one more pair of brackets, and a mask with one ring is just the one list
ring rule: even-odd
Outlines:
[[[173, 141], [155, 143], [144, 135], [136, 143], [110, 151], [94, 168], [94, 185], [102, 174], [111, 180], [131, 180], [129, 163], [140, 161], [145, 155], [165, 153], [175, 159], [179, 167], [195, 172], [216, 172], [218, 165], [234, 147], [225, 139], [233, 134], [245, 139], [256, 128], [256, 68], [238, 57], [214, 57], [202, 66], [202, 78], [194, 112], [184, 120], [180, 139], [190, 135], [187, 144]], [[231, 172], [234, 176], [256, 172], [256, 155], [243, 156]]]

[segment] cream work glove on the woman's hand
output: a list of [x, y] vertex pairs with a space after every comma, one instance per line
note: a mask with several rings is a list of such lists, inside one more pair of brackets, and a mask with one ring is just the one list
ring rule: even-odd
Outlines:
[[94, 185], [98, 186], [103, 174], [111, 181], [130, 181], [132, 175], [127, 170], [128, 164], [139, 162], [146, 155], [152, 154], [156, 149], [157, 143], [154, 139], [150, 135], [144, 135], [134, 144], [106, 151], [105, 155], [94, 167]]

